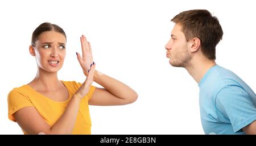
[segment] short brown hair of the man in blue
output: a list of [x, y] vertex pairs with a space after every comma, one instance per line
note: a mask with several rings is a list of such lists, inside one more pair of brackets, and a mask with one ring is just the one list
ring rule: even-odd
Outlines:
[[222, 39], [223, 31], [216, 16], [207, 10], [189, 10], [180, 12], [171, 19], [180, 24], [186, 40], [197, 37], [201, 41], [201, 51], [210, 60], [216, 59], [216, 45]]

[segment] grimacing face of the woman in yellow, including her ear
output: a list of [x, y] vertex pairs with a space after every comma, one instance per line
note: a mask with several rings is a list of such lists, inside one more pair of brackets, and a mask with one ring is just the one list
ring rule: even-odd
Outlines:
[[33, 47], [33, 56], [36, 58], [38, 67], [46, 72], [60, 70], [66, 55], [65, 46], [66, 38], [59, 32], [46, 31], [40, 34]]

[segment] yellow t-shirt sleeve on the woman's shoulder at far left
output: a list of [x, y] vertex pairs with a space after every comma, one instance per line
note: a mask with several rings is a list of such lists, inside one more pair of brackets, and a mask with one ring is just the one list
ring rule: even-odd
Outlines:
[[7, 101], [8, 101], [8, 118], [13, 122], [16, 122], [16, 120], [13, 117], [13, 114], [16, 111], [22, 109], [23, 107], [28, 107], [28, 106], [34, 107], [30, 99], [18, 90], [11, 90], [8, 94]]

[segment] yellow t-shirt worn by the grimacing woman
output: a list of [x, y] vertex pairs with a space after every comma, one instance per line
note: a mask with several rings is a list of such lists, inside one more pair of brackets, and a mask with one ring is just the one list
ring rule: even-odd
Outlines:
[[[38, 110], [39, 114], [46, 120], [49, 126], [53, 126], [60, 116], [63, 115], [73, 94], [75, 94], [82, 85], [75, 81], [61, 82], [67, 87], [69, 93], [69, 98], [63, 102], [53, 101], [28, 85], [16, 87], [11, 90], [8, 95], [8, 118], [16, 122], [13, 114], [23, 107], [32, 106]], [[95, 87], [90, 86], [89, 93], [82, 98], [72, 134], [90, 134], [92, 123], [90, 120], [88, 101], [92, 97], [94, 90]], [[24, 130], [22, 131], [24, 134], [27, 134]]]

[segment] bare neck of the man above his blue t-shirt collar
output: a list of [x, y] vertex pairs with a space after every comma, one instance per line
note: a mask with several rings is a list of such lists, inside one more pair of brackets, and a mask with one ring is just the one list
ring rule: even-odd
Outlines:
[[194, 80], [199, 83], [204, 77], [205, 73], [216, 65], [214, 60], [201, 59], [201, 60], [191, 60], [190, 64], [185, 67], [188, 73], [194, 78]]

